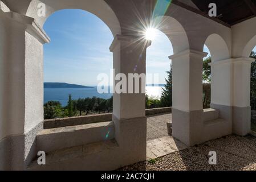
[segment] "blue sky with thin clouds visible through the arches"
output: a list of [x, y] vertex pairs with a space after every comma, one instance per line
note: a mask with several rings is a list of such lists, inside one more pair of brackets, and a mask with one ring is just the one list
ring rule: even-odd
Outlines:
[[[44, 82], [97, 85], [99, 73], [109, 75], [113, 35], [97, 16], [83, 10], [60, 10], [47, 19], [44, 30], [51, 38], [44, 45]], [[206, 47], [204, 51], [209, 52]], [[159, 73], [160, 84], [165, 84], [172, 54], [169, 39], [157, 31], [147, 49], [147, 73]]]

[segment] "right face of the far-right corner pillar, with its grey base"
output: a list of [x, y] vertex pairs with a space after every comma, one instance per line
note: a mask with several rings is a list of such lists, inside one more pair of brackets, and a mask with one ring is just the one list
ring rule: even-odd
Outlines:
[[233, 133], [246, 135], [251, 131], [250, 78], [254, 59], [233, 59]]

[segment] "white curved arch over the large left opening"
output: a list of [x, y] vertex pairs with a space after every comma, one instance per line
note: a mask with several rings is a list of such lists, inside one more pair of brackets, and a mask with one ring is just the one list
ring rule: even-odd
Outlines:
[[[38, 16], [38, 3], [46, 5], [46, 17]], [[31, 1], [26, 15], [35, 18], [36, 22], [43, 27], [46, 19], [55, 11], [63, 9], [80, 9], [88, 11], [103, 20], [111, 30], [113, 36], [121, 34], [121, 27], [116, 14], [104, 0], [34, 0]]]

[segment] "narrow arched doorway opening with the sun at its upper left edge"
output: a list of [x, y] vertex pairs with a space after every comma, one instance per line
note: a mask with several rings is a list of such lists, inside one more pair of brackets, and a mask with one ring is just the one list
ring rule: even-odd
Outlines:
[[[173, 48], [163, 32], [157, 29], [152, 31], [152, 43], [147, 48], [146, 109], [167, 108], [172, 106], [172, 65], [168, 56], [173, 55]], [[170, 111], [148, 116], [147, 140], [171, 135], [166, 127], [172, 119]]]

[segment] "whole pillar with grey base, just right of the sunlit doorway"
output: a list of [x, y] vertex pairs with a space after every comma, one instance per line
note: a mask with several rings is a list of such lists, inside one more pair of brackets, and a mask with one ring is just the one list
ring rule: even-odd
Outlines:
[[207, 53], [188, 49], [172, 60], [173, 137], [188, 146], [201, 142], [202, 58]]

